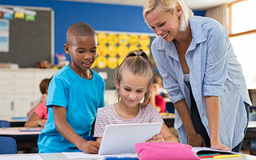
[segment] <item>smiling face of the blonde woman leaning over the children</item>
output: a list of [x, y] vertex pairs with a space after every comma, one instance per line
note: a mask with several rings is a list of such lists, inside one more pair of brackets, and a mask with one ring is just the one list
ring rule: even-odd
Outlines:
[[146, 22], [148, 22], [154, 33], [164, 38], [166, 42], [174, 40], [179, 32], [179, 17], [182, 11], [177, 7], [176, 10], [178, 11], [174, 11], [173, 14], [161, 8], [156, 8], [146, 15]]

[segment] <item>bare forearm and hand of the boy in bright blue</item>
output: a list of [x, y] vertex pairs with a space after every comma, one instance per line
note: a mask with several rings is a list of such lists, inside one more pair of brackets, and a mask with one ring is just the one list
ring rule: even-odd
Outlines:
[[66, 122], [66, 108], [61, 106], [52, 106], [54, 112], [54, 123], [56, 129], [64, 138], [78, 147], [86, 154], [98, 154], [99, 143], [86, 141], [80, 137], [68, 122]]

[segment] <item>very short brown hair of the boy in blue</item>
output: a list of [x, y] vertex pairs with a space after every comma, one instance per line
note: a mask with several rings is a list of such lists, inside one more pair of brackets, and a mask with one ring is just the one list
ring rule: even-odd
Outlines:
[[73, 36], [94, 36], [96, 35], [95, 30], [88, 24], [84, 22], [77, 22], [71, 25], [68, 30], [66, 30], [66, 44], [71, 46]]

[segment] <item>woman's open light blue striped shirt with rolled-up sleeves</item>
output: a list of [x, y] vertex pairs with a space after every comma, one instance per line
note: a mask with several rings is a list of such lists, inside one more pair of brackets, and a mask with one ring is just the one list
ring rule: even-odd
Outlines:
[[[230, 44], [228, 34], [220, 23], [212, 18], [190, 18], [192, 41], [186, 50], [186, 62], [190, 69], [190, 85], [198, 112], [210, 136], [206, 114], [205, 96], [218, 96], [220, 100], [220, 141], [230, 149], [238, 145], [246, 128], [244, 102], [251, 105], [242, 68]], [[163, 85], [170, 100], [185, 98], [190, 109], [190, 90], [185, 85], [182, 66], [174, 42], [154, 38], [151, 46], [154, 61], [163, 78]], [[182, 143], [187, 143], [182, 120], [175, 113], [174, 127]]]

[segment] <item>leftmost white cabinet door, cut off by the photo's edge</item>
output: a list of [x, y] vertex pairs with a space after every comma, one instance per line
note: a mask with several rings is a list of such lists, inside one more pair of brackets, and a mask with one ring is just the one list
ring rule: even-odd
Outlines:
[[0, 94], [0, 110], [1, 118], [14, 116], [14, 96], [12, 94]]

